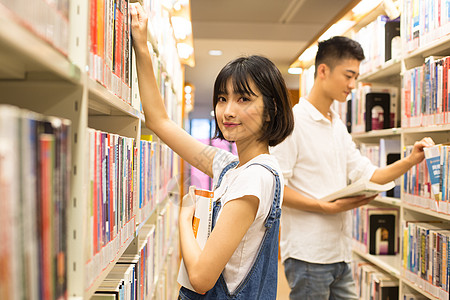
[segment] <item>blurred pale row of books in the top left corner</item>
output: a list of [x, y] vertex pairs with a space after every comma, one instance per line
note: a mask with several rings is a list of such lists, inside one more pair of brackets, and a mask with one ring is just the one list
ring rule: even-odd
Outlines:
[[0, 9], [47, 41], [64, 55], [69, 53], [69, 0], [1, 0]]

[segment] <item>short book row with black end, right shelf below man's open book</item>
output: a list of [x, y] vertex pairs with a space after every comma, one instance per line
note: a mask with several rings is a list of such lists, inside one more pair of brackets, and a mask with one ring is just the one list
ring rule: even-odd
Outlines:
[[398, 207], [365, 205], [353, 209], [352, 217], [355, 248], [373, 255], [398, 253]]

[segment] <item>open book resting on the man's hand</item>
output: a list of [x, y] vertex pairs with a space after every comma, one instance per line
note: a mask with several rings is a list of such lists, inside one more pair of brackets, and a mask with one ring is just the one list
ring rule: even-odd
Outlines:
[[360, 179], [341, 190], [338, 190], [334, 193], [329, 194], [328, 196], [323, 197], [320, 200], [335, 201], [337, 199], [350, 198], [362, 195], [370, 197], [381, 192], [389, 191], [394, 187], [395, 183], [393, 181], [390, 181], [386, 184], [378, 184], [369, 180]]

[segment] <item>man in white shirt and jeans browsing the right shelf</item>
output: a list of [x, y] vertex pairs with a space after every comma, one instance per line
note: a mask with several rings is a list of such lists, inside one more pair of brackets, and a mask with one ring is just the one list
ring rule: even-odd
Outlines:
[[374, 197], [335, 202], [320, 199], [360, 178], [387, 183], [424, 159], [416, 142], [408, 157], [377, 168], [356, 149], [334, 100], [345, 102], [359, 75], [364, 53], [356, 41], [334, 37], [319, 43], [314, 85], [294, 106], [294, 131], [271, 149], [286, 180], [281, 217], [281, 256], [291, 299], [358, 299], [351, 260], [351, 209]]

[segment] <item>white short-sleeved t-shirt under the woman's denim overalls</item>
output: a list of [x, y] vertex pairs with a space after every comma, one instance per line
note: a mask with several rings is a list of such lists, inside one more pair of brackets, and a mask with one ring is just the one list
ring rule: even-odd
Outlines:
[[[216, 153], [213, 162], [214, 186], [216, 186], [223, 168], [232, 161], [237, 160], [237, 156], [224, 150], [219, 150]], [[264, 222], [270, 212], [275, 192], [274, 175], [263, 166], [249, 166], [253, 163], [262, 163], [277, 171], [280, 175], [281, 187], [284, 186], [281, 169], [276, 159], [269, 154], [261, 154], [238, 168], [228, 170], [222, 178], [222, 183], [219, 188], [215, 190], [214, 201], [220, 198], [222, 208], [228, 201], [246, 195], [256, 196], [259, 199], [255, 220], [242, 241], [239, 243], [223, 271], [223, 276], [230, 293], [238, 287], [253, 265], [266, 230]], [[281, 193], [280, 201], [282, 201], [282, 199], [283, 194]], [[218, 219], [219, 218], [220, 212], [218, 214]]]

